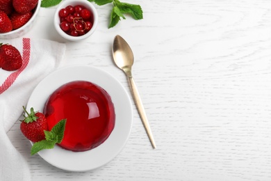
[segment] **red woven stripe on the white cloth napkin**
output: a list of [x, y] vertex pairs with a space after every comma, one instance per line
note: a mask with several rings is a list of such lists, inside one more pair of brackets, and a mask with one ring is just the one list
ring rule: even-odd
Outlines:
[[30, 60], [30, 38], [23, 38], [23, 52], [22, 52], [22, 67], [16, 70], [15, 72], [11, 73], [8, 78], [3, 82], [0, 86], [0, 94], [6, 91], [17, 79], [19, 74], [21, 74], [24, 69], [27, 67], [29, 60]]

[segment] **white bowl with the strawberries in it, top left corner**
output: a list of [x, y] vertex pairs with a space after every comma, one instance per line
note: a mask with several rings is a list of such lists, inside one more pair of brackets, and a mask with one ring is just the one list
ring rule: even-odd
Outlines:
[[0, 0], [0, 38], [18, 38], [33, 26], [42, 0]]

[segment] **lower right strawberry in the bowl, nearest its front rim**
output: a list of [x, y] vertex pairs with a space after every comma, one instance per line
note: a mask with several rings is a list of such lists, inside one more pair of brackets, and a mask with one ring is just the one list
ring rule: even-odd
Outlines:
[[26, 14], [20, 14], [17, 12], [14, 12], [10, 15], [10, 22], [13, 25], [13, 29], [19, 29], [20, 27], [24, 26], [29, 19], [32, 17], [33, 13], [32, 11], [29, 11]]

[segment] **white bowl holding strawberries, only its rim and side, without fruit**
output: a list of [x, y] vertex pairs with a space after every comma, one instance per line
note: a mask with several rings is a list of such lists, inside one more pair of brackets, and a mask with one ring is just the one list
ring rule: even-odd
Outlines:
[[36, 17], [40, 11], [41, 3], [42, 3], [42, 0], [38, 0], [38, 4], [37, 4], [37, 7], [35, 8], [35, 12], [33, 13], [31, 19], [29, 19], [29, 21], [26, 24], [24, 24], [24, 26], [7, 33], [0, 33], [0, 39], [18, 38], [20, 36], [23, 36], [25, 33], [28, 33], [28, 31], [32, 28], [35, 20], [37, 19]]

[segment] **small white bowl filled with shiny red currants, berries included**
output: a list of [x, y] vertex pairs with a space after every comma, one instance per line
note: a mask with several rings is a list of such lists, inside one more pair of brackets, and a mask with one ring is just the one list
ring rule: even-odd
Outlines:
[[98, 22], [95, 6], [90, 1], [62, 1], [54, 15], [56, 31], [70, 41], [85, 40], [94, 33]]

